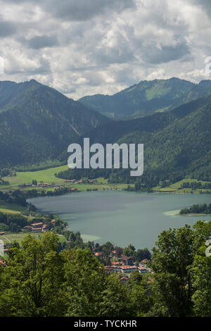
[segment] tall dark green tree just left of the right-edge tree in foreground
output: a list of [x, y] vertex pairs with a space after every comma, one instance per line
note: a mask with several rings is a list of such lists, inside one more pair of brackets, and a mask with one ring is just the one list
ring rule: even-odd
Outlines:
[[190, 226], [161, 232], [153, 248], [154, 291], [167, 316], [190, 316], [193, 284], [188, 267], [193, 263], [194, 234]]

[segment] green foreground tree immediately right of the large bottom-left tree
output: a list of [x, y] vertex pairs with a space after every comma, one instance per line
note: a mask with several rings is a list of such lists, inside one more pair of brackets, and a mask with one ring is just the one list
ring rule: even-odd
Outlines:
[[98, 316], [106, 277], [103, 266], [92, 256], [90, 249], [75, 248], [62, 254], [65, 261], [67, 315]]

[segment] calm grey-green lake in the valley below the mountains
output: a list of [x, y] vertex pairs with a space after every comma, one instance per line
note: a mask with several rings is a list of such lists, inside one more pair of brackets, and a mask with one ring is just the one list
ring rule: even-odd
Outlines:
[[210, 203], [209, 194], [147, 194], [122, 191], [79, 192], [28, 199], [40, 213], [58, 214], [85, 241], [133, 244], [151, 249], [162, 230], [193, 225], [211, 216], [174, 216], [181, 208]]

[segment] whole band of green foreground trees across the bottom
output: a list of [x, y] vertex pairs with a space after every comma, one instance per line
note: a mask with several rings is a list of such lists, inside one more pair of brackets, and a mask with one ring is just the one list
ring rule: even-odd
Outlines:
[[211, 256], [205, 255], [210, 235], [211, 222], [203, 221], [161, 232], [153, 273], [134, 272], [127, 284], [106, 273], [90, 248], [61, 251], [55, 233], [29, 235], [0, 265], [0, 316], [211, 316]]

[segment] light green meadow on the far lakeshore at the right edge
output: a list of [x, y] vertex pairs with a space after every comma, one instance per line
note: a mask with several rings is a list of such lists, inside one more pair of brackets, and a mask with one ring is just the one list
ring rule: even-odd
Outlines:
[[[175, 182], [174, 184], [168, 186], [168, 187], [154, 187], [154, 191], [159, 191], [159, 192], [175, 192], [175, 193], [200, 193], [201, 189], [186, 189], [186, 188], [181, 188], [181, 184], [183, 182], [201, 182], [202, 184], [205, 184], [203, 180], [194, 180], [192, 178], [184, 178], [184, 180], [180, 180], [179, 182]], [[211, 189], [207, 189], [207, 192], [211, 193]]]

